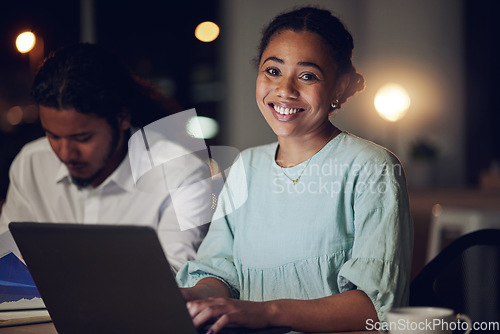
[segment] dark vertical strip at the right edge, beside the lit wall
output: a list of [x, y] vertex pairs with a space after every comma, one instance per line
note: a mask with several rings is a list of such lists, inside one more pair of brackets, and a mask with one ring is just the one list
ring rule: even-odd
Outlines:
[[[481, 173], [487, 171], [500, 178], [499, 11], [500, 1], [466, 1], [466, 166], [470, 184], [481, 182]], [[491, 179], [482, 182], [483, 186], [493, 186]], [[498, 181], [495, 184], [500, 185]]]

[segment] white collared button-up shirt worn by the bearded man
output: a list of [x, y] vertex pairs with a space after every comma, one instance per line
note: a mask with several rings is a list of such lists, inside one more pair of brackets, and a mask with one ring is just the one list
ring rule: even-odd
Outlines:
[[[202, 163], [179, 167], [183, 175], [194, 179], [207, 177]], [[184, 180], [178, 181], [177, 187], [182, 188]], [[206, 187], [195, 191], [191, 187], [190, 191], [189, 196], [183, 196], [186, 201], [180, 211], [182, 219], [192, 218], [193, 226], [199, 227], [181, 229], [168, 193], [144, 192], [135, 186], [128, 155], [98, 187], [79, 189], [43, 137], [27, 144], [11, 165], [0, 234], [12, 221], [152, 226], [158, 231], [170, 264], [178, 270], [184, 262], [194, 259], [207, 227], [199, 223], [199, 216], [206, 216], [211, 193]]]

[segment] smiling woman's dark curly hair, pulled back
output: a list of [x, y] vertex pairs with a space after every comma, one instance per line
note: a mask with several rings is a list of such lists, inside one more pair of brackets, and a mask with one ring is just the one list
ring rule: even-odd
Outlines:
[[351, 34], [344, 24], [331, 12], [315, 7], [302, 7], [291, 12], [276, 16], [263, 30], [259, 45], [259, 55], [255, 62], [260, 63], [262, 54], [272, 37], [284, 30], [295, 32], [309, 31], [323, 37], [330, 45], [332, 57], [337, 62], [337, 75], [348, 74], [350, 76], [349, 86], [339, 99], [338, 108], [349, 97], [365, 88], [365, 79], [356, 72], [352, 65], [352, 50], [354, 42]]

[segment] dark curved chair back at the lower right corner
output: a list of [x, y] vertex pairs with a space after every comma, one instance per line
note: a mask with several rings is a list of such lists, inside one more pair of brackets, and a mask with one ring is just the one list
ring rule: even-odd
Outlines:
[[500, 323], [500, 229], [466, 234], [444, 248], [411, 282], [410, 305], [447, 307], [473, 322]]

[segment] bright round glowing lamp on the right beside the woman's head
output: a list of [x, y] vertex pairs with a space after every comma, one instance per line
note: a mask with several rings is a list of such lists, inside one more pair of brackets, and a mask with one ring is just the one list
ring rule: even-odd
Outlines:
[[408, 92], [401, 85], [388, 83], [377, 91], [374, 103], [383, 119], [397, 122], [406, 115], [411, 101]]

